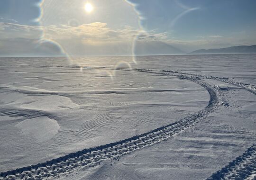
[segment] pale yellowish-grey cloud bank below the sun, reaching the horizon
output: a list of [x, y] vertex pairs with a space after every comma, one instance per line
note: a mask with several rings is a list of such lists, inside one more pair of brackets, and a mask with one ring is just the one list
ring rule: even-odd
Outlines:
[[[1, 54], [16, 53], [15, 49], [19, 49], [19, 54], [32, 53], [33, 47], [42, 47], [41, 42], [49, 42], [44, 44], [44, 51], [54, 49], [54, 45], [59, 46], [61, 51], [70, 55], [111, 55], [111, 54], [132, 54], [132, 45], [137, 35], [140, 34], [140, 41], [165, 41], [166, 33], [155, 33], [155, 31], [141, 31], [132, 27], [124, 27], [123, 29], [113, 29], [108, 27], [106, 23], [95, 22], [90, 24], [82, 24], [77, 27], [68, 25], [58, 26], [27, 26], [14, 23], [0, 23], [0, 38], [5, 45], [1, 49]], [[26, 48], [24, 46], [26, 44]], [[51, 48], [46, 48], [50, 46]], [[14, 48], [15, 47], [15, 48]], [[42, 48], [41, 48], [42, 49]], [[57, 48], [58, 49], [58, 48]], [[47, 51], [46, 51], [47, 50]]]

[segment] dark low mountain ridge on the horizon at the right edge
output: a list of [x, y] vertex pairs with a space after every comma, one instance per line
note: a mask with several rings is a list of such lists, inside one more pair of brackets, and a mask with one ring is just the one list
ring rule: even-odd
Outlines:
[[199, 49], [189, 54], [239, 54], [256, 53], [256, 45], [239, 45], [219, 49]]

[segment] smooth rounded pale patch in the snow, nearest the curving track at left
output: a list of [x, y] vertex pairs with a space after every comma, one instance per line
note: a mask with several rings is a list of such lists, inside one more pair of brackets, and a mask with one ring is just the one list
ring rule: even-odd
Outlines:
[[23, 135], [32, 136], [38, 142], [50, 140], [60, 129], [57, 121], [48, 117], [27, 119], [18, 123], [15, 127], [21, 129]]

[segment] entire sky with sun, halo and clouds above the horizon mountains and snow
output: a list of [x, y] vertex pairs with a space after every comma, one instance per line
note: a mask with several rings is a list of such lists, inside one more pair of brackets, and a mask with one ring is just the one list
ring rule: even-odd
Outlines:
[[255, 8], [256, 0], [0, 0], [0, 56], [183, 54], [255, 45]]

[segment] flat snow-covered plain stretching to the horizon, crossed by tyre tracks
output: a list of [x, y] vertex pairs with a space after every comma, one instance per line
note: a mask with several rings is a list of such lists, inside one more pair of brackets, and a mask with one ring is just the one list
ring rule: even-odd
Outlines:
[[256, 143], [256, 54], [73, 60], [0, 58], [0, 171], [46, 162], [2, 177], [202, 180]]

